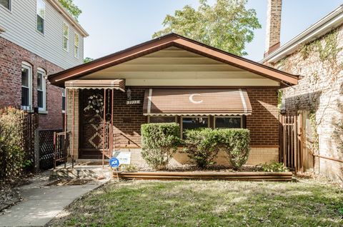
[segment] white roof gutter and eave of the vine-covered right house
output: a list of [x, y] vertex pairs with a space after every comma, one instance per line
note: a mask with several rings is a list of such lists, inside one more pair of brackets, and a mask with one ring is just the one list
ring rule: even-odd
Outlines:
[[262, 59], [260, 63], [262, 64], [266, 62], [274, 63], [276, 61], [279, 61], [279, 59], [282, 59], [284, 56], [292, 54], [294, 51], [296, 51], [299, 48], [299, 46], [303, 44], [307, 44], [310, 41], [313, 41], [314, 39], [317, 39], [320, 36], [323, 36], [328, 31], [337, 28], [342, 23], [343, 23], [343, 4], [337, 7], [337, 9], [335, 9], [331, 13], [327, 14], [327, 16], [324, 16], [324, 18], [317, 21], [315, 24], [310, 26], [301, 34], [295, 36], [289, 42], [280, 46], [279, 49], [276, 49], [267, 57]]

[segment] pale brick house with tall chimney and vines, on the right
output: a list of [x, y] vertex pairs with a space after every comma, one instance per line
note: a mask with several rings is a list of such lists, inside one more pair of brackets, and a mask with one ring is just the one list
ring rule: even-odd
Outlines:
[[282, 46], [275, 35], [280, 32], [281, 1], [274, 1], [269, 18], [267, 40], [272, 41], [262, 62], [302, 78], [297, 86], [282, 89], [281, 111], [303, 116], [299, 130], [306, 141], [307, 169], [343, 179], [342, 131], [337, 135], [343, 120], [343, 5]]

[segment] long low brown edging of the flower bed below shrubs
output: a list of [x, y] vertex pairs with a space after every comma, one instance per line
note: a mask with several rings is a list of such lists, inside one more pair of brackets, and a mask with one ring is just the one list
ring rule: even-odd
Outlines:
[[[129, 180], [224, 180], [224, 181], [292, 181], [292, 172], [118, 172], [121, 179]], [[113, 173], [116, 178], [116, 172]]]

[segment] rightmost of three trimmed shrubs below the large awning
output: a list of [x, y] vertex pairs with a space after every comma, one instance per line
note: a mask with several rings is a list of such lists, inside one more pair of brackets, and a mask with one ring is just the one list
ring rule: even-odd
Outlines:
[[227, 152], [232, 168], [240, 168], [248, 160], [250, 131], [244, 128], [226, 128], [218, 131], [221, 146]]

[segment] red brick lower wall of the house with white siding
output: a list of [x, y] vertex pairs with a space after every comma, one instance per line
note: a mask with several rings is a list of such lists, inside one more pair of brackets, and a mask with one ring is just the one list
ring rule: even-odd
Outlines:
[[[47, 74], [63, 70], [21, 46], [0, 37], [0, 108], [20, 106], [21, 104], [21, 63], [23, 61], [29, 62], [32, 66], [33, 106], [37, 106], [37, 68], [45, 69]], [[39, 114], [40, 128], [62, 128], [61, 102], [61, 89], [46, 84], [46, 111], [48, 114]]]

